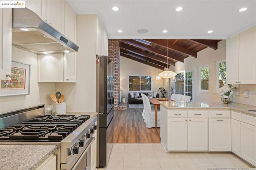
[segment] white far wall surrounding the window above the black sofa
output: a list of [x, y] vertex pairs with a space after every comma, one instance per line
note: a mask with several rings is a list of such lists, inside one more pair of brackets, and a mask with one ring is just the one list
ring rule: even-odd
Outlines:
[[167, 87], [164, 86], [164, 80], [166, 79], [162, 78], [162, 80], [156, 80], [158, 72], [162, 72], [162, 70], [121, 56], [120, 88], [122, 90], [122, 97], [126, 99], [126, 102], [128, 102], [129, 76], [152, 76], [152, 92], [158, 92], [159, 97], [161, 97], [158, 88], [164, 87], [167, 90]]

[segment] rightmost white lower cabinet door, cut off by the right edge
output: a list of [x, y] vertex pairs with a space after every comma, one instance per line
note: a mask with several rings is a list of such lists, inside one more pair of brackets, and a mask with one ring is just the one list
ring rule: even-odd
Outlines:
[[241, 122], [241, 157], [256, 166], [256, 126], [244, 122]]

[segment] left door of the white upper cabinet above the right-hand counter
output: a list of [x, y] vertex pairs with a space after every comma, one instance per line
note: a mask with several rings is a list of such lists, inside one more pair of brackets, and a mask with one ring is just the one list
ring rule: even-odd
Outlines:
[[237, 84], [239, 80], [239, 35], [226, 40], [227, 83]]

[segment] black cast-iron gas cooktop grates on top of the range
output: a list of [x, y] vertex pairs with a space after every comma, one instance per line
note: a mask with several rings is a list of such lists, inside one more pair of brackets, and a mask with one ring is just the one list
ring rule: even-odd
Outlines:
[[0, 141], [62, 141], [89, 118], [90, 115], [38, 116], [0, 129]]

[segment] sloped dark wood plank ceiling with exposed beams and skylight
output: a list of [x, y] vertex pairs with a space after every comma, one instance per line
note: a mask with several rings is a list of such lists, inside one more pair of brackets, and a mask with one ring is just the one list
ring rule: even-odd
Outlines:
[[118, 39], [120, 55], [134, 61], [164, 70], [170, 65], [209, 47], [217, 49], [221, 40], [206, 39]]

